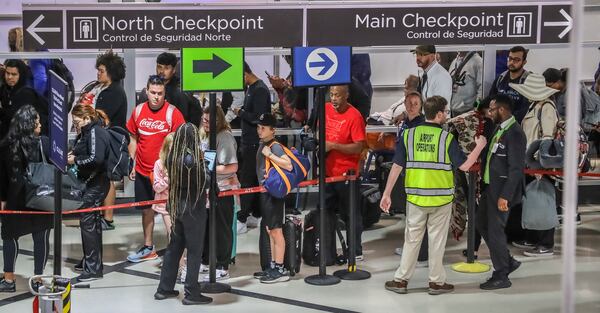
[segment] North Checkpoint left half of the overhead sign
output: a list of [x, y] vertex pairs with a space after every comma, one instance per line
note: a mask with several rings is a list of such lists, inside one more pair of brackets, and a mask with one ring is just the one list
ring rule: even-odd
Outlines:
[[[30, 11], [30, 7], [23, 7], [23, 29], [33, 28], [33, 31], [28, 32], [30, 36], [25, 38], [27, 48], [178, 49], [291, 47], [302, 44], [302, 9], [282, 10], [266, 6], [248, 9], [239, 9], [239, 6], [215, 8], [192, 4], [97, 4], [73, 6], [73, 9], [69, 9], [69, 5], [65, 7], [66, 9], [54, 7], [43, 11]], [[52, 14], [61, 18], [53, 20], [50, 25], [50, 21], [46, 22], [46, 19]], [[39, 23], [38, 19], [44, 20], [41, 24], [36, 24]], [[54, 32], [57, 27], [66, 30], [64, 38], [62, 34], [46, 38], [47, 33]]]

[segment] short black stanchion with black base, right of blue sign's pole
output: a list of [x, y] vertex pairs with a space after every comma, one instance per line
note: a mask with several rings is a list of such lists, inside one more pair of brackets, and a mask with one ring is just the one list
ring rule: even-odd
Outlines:
[[348, 230], [348, 269], [339, 270], [333, 273], [334, 276], [343, 280], [363, 280], [369, 279], [371, 273], [363, 270], [356, 269], [356, 190], [357, 190], [357, 177], [355, 176], [354, 170], [349, 170], [348, 175], [354, 176], [349, 183], [350, 188], [350, 207], [348, 208], [348, 224], [346, 229]]

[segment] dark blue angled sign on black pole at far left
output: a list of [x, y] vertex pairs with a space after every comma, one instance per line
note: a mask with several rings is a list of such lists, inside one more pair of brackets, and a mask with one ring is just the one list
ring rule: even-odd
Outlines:
[[62, 173], [67, 169], [68, 84], [50, 71], [50, 161], [54, 163], [54, 275], [62, 270]]

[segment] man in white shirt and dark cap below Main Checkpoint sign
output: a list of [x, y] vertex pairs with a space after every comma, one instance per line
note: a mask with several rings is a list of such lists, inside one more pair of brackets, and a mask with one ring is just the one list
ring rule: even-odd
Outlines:
[[423, 95], [423, 99], [441, 96], [450, 103], [452, 78], [448, 71], [437, 62], [435, 46], [421, 45], [410, 52], [415, 54], [417, 65], [423, 70], [423, 73], [419, 75], [421, 80], [417, 89]]

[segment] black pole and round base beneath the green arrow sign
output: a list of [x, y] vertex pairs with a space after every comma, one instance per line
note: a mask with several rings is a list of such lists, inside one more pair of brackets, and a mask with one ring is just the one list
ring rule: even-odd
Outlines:
[[[210, 136], [209, 136], [209, 147], [210, 150], [217, 150], [217, 94], [214, 92], [209, 95], [210, 105]], [[208, 226], [208, 254], [209, 254], [209, 274], [208, 282], [200, 284], [200, 290], [204, 293], [224, 293], [231, 290], [231, 286], [228, 284], [218, 283], [216, 275], [217, 266], [217, 169], [216, 169], [216, 158], [215, 168], [210, 171], [210, 191], [209, 191], [209, 226]]]

